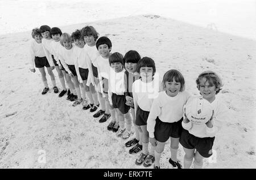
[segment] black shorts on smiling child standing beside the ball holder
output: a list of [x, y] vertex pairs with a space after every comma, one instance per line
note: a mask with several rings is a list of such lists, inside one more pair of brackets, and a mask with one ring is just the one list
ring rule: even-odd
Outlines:
[[155, 123], [155, 139], [159, 142], [166, 142], [170, 137], [172, 138], [180, 138], [182, 132], [181, 122], [183, 118], [181, 118], [177, 122], [162, 122], [158, 117], [156, 118]]

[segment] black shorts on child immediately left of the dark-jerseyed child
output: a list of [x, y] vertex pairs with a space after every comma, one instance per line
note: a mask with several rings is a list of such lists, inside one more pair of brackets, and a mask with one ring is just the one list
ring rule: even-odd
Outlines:
[[123, 114], [126, 114], [129, 112], [130, 106], [127, 106], [125, 104], [126, 102], [125, 95], [116, 95], [115, 93], [113, 93], [111, 98], [112, 98], [113, 108], [118, 108]]

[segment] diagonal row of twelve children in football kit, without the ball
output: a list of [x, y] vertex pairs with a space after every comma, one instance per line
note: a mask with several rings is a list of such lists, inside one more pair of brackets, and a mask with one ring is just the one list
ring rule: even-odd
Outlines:
[[216, 98], [222, 82], [215, 72], [203, 72], [196, 80], [201, 97], [213, 105], [214, 113], [207, 123], [194, 125], [183, 109], [193, 97], [185, 91], [185, 80], [179, 71], [169, 70], [159, 81], [153, 59], [141, 58], [135, 50], [124, 57], [118, 52], [110, 53], [112, 42], [108, 37], [98, 38], [92, 26], [70, 36], [59, 28], [42, 25], [32, 30], [32, 37], [35, 41], [31, 42], [31, 71], [35, 72], [35, 66], [42, 74], [42, 94], [49, 91], [44, 66], [54, 92], [59, 92], [52, 72], [56, 68], [62, 85], [59, 97], [67, 93], [67, 83], [67, 99], [75, 101], [73, 106], [82, 103], [82, 109], [90, 112], [100, 109], [93, 115], [103, 115], [99, 122], [111, 116], [108, 130], [123, 139], [131, 136], [133, 122], [135, 138], [125, 145], [133, 147], [131, 154], [142, 151], [135, 164], [148, 167], [155, 162], [154, 168], [160, 168], [160, 156], [168, 139], [169, 162], [174, 167], [181, 168], [177, 160], [179, 143], [185, 151], [184, 168], [191, 166], [193, 158], [193, 167], [202, 168], [203, 158], [212, 155], [214, 136], [226, 115], [225, 106]]

